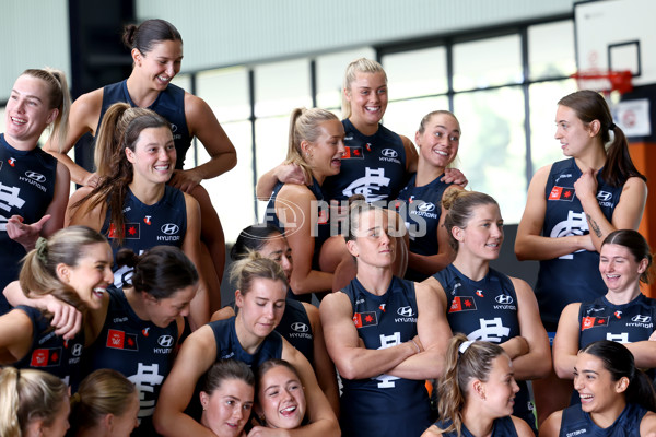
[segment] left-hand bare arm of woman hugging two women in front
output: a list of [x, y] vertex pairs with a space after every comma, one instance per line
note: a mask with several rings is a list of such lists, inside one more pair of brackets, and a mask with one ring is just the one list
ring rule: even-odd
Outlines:
[[185, 340], [173, 369], [160, 392], [153, 424], [163, 436], [207, 436], [214, 434], [184, 413], [191, 401], [194, 388], [216, 356], [216, 342], [209, 326]]

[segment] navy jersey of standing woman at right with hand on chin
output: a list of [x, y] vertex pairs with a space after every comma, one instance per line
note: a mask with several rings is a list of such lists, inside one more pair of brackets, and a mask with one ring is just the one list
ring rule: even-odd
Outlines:
[[[547, 213], [542, 236], [558, 238], [589, 234], [588, 223], [574, 192], [574, 182], [582, 173], [574, 158], [551, 166], [544, 187]], [[604, 216], [610, 222], [620, 201], [622, 187], [611, 187], [597, 175], [597, 200]], [[555, 331], [563, 308], [573, 302], [591, 302], [606, 294], [599, 274], [599, 253], [579, 250], [540, 261], [536, 297], [547, 331]]]

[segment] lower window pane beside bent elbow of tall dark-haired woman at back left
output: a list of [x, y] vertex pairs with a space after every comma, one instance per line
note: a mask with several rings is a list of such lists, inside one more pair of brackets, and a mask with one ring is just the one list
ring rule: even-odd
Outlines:
[[[227, 122], [222, 127], [237, 150], [237, 166], [216, 178], [203, 180], [202, 186], [210, 193], [212, 204], [221, 217], [225, 243], [231, 244], [245, 226], [256, 222], [253, 206], [253, 141], [250, 121]], [[210, 156], [204, 149], [200, 149], [199, 162], [204, 163]]]

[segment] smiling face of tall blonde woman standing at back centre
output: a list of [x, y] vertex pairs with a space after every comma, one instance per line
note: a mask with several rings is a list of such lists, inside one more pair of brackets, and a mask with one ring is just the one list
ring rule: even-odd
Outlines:
[[387, 82], [385, 73], [358, 72], [351, 86], [344, 90], [351, 104], [350, 119], [355, 123], [376, 126], [387, 109]]

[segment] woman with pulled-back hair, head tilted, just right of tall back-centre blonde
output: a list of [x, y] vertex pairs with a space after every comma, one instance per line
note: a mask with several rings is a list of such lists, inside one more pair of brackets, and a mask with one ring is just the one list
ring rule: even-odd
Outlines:
[[419, 147], [417, 173], [399, 193], [402, 204], [395, 205], [410, 237], [407, 280], [423, 281], [453, 261], [454, 252], [444, 227], [446, 211], [442, 206], [442, 194], [452, 185], [442, 179], [456, 158], [460, 134], [456, 116], [448, 110], [435, 110], [422, 118], [414, 135]]

